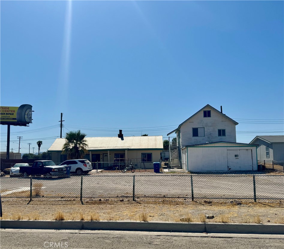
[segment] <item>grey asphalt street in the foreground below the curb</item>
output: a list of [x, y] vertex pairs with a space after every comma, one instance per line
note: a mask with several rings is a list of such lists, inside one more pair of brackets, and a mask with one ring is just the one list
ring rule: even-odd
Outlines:
[[[1, 229], [1, 249], [283, 248], [283, 235]], [[55, 244], [56, 243], [56, 244]]]

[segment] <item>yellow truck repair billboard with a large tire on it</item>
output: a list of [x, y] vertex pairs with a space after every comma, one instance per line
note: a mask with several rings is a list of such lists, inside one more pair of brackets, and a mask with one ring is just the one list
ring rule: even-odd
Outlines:
[[32, 106], [31, 105], [21, 105], [19, 107], [15, 106], [1, 106], [1, 124], [19, 125], [26, 126], [31, 123], [32, 120]]

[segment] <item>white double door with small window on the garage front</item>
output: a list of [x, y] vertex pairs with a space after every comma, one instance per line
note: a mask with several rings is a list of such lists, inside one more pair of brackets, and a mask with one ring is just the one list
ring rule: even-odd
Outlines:
[[227, 150], [228, 170], [253, 170], [252, 150]]

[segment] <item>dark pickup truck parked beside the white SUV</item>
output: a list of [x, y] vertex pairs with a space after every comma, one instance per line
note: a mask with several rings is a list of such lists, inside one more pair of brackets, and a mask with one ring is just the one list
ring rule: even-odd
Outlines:
[[57, 166], [53, 161], [41, 160], [34, 161], [32, 166], [20, 166], [20, 173], [27, 177], [29, 175], [66, 175], [66, 168], [64, 166]]

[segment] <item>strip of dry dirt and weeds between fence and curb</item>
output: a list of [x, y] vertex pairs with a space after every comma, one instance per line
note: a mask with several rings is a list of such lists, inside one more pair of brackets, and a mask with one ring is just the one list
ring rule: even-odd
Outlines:
[[[123, 201], [2, 201], [2, 219], [54, 220], [61, 211], [65, 220], [136, 220], [144, 214], [148, 221], [284, 223], [284, 203], [241, 202], [141, 202]], [[205, 215], [214, 215], [206, 219]]]

